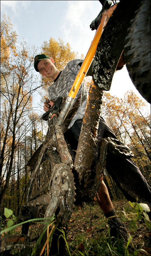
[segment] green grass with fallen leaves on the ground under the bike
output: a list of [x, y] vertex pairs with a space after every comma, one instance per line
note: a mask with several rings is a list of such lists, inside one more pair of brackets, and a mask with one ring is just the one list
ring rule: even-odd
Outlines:
[[[113, 206], [119, 219], [129, 229], [128, 217], [131, 218], [133, 216], [133, 208], [127, 200], [113, 201]], [[123, 208], [125, 215], [122, 212]], [[16, 226], [18, 229], [15, 232], [21, 233], [21, 226]], [[150, 255], [150, 230], [147, 229], [147, 226], [142, 221], [137, 221], [137, 226], [137, 231], [129, 231], [129, 241], [123, 243], [122, 240], [110, 237], [107, 219], [96, 203], [87, 204], [85, 207], [76, 206], [68, 224], [66, 239], [62, 230], [62, 236], [66, 243], [66, 255]], [[35, 237], [39, 236], [39, 232], [40, 223], [30, 226], [31, 255], [35, 255]], [[49, 236], [51, 239], [51, 233], [49, 233]], [[48, 255], [46, 249], [44, 253]], [[22, 255], [22, 253], [14, 250], [12, 255]]]

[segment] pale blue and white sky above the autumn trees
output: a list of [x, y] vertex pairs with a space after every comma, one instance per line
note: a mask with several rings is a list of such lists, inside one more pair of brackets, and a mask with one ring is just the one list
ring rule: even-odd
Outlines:
[[[1, 21], [4, 14], [10, 18], [13, 30], [18, 35], [18, 43], [24, 39], [29, 46], [40, 49], [50, 37], [61, 38], [70, 44], [71, 49], [86, 56], [96, 30], [90, 29], [102, 5], [98, 0], [90, 1], [30, 1], [1, 0]], [[39, 50], [40, 52], [40, 50]], [[110, 89], [111, 95], [119, 98], [129, 90], [141, 95], [134, 87], [126, 66], [114, 74]]]

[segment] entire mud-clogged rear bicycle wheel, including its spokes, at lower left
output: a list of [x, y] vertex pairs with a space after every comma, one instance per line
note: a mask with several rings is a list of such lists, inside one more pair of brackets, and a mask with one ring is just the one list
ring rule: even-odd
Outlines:
[[[39, 154], [32, 157], [31, 167], [32, 176], [27, 187], [28, 196], [26, 203], [20, 214], [20, 221], [33, 219], [37, 217], [51, 218], [56, 217], [56, 227], [67, 227], [71, 214], [74, 209], [75, 201], [75, 184], [72, 173], [73, 163], [68, 152], [68, 147], [64, 140], [61, 129], [58, 128], [59, 139], [50, 139], [50, 143], [46, 145], [43, 158], [40, 157], [43, 150]], [[53, 133], [54, 134], [54, 133]], [[49, 137], [49, 136], [48, 136]], [[44, 149], [45, 149], [44, 148]], [[32, 166], [34, 164], [34, 166]], [[37, 168], [39, 166], [39, 168]], [[23, 219], [24, 218], [24, 219]], [[41, 252], [47, 239], [47, 232], [44, 232], [48, 225], [47, 220], [40, 227], [41, 241], [37, 246], [37, 253]], [[22, 233], [27, 234], [29, 222], [22, 227]], [[54, 242], [54, 241], [53, 241]], [[56, 250], [58, 250], [56, 241]], [[38, 255], [38, 254], [37, 254]]]

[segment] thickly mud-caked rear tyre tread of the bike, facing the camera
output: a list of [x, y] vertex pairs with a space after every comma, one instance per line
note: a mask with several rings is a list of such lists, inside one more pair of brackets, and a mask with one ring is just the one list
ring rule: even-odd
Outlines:
[[[51, 171], [50, 177], [51, 183], [49, 192], [49, 204], [47, 204], [45, 218], [55, 215], [56, 228], [66, 228], [74, 209], [75, 183], [73, 173], [69, 165], [61, 162], [60, 156], [56, 150], [48, 150], [46, 153], [46, 157], [48, 158], [50, 165], [53, 169]], [[47, 223], [41, 226], [40, 234], [43, 233], [46, 226]], [[56, 230], [55, 234], [52, 237], [53, 245], [50, 248], [49, 255], [54, 255], [58, 253], [58, 250], [62, 253], [63, 245], [65, 245], [65, 243], [63, 238], [61, 237], [58, 247], [59, 235], [61, 235], [61, 232], [59, 230]], [[41, 242], [37, 247], [37, 252], [40, 252], [42, 250], [46, 239], [47, 234], [45, 232]]]

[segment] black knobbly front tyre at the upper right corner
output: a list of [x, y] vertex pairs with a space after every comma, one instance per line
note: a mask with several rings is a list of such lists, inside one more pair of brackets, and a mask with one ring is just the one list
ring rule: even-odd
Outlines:
[[150, 103], [150, 1], [141, 1], [128, 33], [124, 49], [126, 67], [134, 86]]

